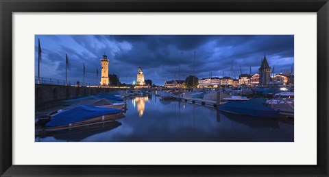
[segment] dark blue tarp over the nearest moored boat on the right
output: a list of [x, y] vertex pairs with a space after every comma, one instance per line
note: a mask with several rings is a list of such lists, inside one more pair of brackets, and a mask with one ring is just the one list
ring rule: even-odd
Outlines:
[[277, 110], [255, 102], [227, 102], [226, 104], [223, 104], [223, 106], [219, 106], [218, 109], [228, 113], [249, 115], [253, 117], [278, 117]]

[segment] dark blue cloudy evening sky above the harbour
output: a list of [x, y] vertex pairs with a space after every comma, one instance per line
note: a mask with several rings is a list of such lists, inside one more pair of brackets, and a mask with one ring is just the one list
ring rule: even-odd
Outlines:
[[[142, 67], [145, 80], [162, 85], [165, 80], [184, 80], [193, 74], [198, 78], [233, 76], [258, 72], [260, 60], [266, 53], [275, 73], [290, 71], [294, 63], [293, 35], [36, 35], [35, 73], [38, 75], [38, 38], [42, 48], [40, 77], [65, 80], [65, 54], [69, 58], [68, 80], [96, 82], [100, 59], [108, 55], [109, 73], [119, 75], [120, 81], [131, 84]], [[180, 66], [180, 74], [179, 74]]]

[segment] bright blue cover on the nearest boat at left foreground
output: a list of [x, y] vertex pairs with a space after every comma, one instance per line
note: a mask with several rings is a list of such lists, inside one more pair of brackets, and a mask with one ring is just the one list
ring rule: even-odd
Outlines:
[[97, 108], [93, 106], [77, 106], [71, 110], [64, 110], [53, 116], [53, 118], [46, 123], [45, 127], [64, 126], [69, 125], [69, 123], [85, 121], [94, 117], [117, 113], [121, 113], [121, 110], [114, 108]]

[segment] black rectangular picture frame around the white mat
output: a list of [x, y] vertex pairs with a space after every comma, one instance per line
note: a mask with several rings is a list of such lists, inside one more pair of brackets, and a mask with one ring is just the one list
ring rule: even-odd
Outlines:
[[[328, 176], [328, 0], [0, 0], [0, 11], [1, 176]], [[13, 12], [317, 12], [317, 165], [12, 165]]]

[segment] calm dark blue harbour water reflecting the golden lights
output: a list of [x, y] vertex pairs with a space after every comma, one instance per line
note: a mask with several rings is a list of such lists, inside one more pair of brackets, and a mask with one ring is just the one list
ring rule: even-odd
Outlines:
[[162, 101], [155, 95], [128, 99], [125, 118], [116, 123], [114, 128], [64, 131], [36, 141], [283, 142], [294, 137], [290, 119], [237, 116], [187, 102]]

